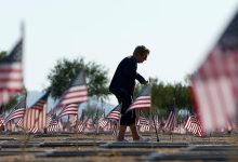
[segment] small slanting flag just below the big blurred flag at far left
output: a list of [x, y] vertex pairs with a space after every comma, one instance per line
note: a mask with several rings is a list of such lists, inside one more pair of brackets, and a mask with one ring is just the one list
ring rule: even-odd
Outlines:
[[9, 116], [5, 118], [5, 123], [8, 123], [11, 120], [23, 118], [26, 110], [26, 97], [22, 99], [9, 113]]

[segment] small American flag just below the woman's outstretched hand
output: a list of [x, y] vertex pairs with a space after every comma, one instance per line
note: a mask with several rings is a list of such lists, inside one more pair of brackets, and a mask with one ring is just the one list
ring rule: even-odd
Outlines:
[[133, 109], [150, 108], [150, 85], [146, 85], [142, 89], [141, 94], [138, 95], [138, 97], [135, 98], [127, 112]]

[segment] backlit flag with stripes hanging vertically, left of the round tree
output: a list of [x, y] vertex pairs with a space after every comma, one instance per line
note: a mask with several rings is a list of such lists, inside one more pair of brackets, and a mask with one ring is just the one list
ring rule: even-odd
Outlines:
[[47, 100], [50, 92], [47, 92], [24, 114], [24, 129], [30, 132], [43, 131], [47, 127]]

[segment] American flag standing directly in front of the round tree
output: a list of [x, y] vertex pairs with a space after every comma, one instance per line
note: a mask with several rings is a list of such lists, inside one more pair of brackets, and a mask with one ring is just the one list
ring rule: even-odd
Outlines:
[[76, 79], [71, 82], [69, 87], [64, 92], [56, 110], [65, 108], [69, 104], [80, 104], [88, 100], [88, 89], [85, 84], [85, 78], [83, 72], [79, 72]]

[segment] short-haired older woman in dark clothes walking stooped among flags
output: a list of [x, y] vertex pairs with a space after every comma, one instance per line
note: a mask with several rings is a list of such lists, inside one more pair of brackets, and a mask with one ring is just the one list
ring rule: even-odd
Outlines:
[[136, 71], [137, 64], [145, 62], [148, 54], [149, 50], [144, 45], [136, 46], [132, 56], [128, 56], [120, 62], [111, 79], [109, 92], [111, 92], [117, 97], [118, 103], [121, 104], [120, 127], [117, 137], [118, 141], [125, 141], [124, 134], [127, 126], [130, 126], [134, 141], [148, 140], [141, 137], [137, 133], [135, 125], [135, 110], [125, 112], [133, 103], [135, 80], [137, 80], [141, 84], [146, 85], [148, 83], [148, 81], [146, 81]]

